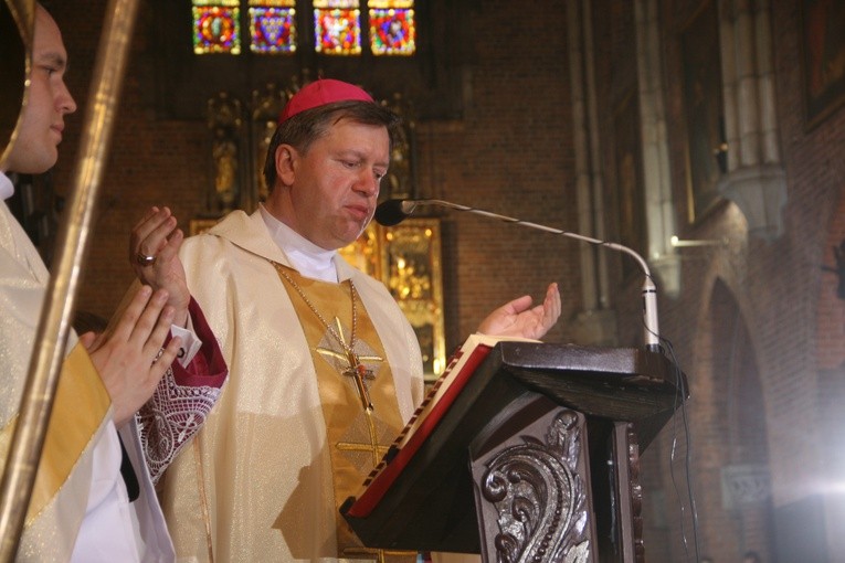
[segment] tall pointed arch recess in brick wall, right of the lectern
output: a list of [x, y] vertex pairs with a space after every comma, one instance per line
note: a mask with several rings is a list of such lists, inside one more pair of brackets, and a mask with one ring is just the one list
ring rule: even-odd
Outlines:
[[[767, 410], [749, 325], [725, 279], [708, 284], [696, 338], [694, 475], [704, 551], [716, 561], [736, 561], [756, 549], [765, 560], [772, 544], [768, 486]], [[762, 493], [760, 493], [762, 491]]]

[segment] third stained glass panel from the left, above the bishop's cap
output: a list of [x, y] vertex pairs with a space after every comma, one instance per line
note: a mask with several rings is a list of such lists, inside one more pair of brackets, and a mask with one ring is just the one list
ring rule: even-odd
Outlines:
[[315, 50], [329, 55], [361, 52], [358, 0], [314, 0]]

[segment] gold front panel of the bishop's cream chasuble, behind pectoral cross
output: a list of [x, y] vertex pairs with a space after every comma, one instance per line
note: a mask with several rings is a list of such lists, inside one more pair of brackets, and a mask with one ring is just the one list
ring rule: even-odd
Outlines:
[[381, 340], [351, 279], [330, 284], [274, 266], [296, 309], [317, 373], [330, 445], [338, 555], [413, 562], [414, 553], [365, 548], [339, 512], [404, 426]]

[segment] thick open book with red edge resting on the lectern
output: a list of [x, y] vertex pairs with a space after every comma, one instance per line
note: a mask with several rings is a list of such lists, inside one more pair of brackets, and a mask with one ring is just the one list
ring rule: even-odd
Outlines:
[[[404, 429], [390, 446], [381, 463], [363, 482], [365, 490], [351, 506], [341, 509], [355, 518], [367, 518], [393, 481], [431, 435], [475, 370], [500, 341], [539, 342], [517, 337], [490, 337], [474, 333], [450, 359], [443, 374], [434, 382]], [[351, 499], [350, 499], [351, 500]]]

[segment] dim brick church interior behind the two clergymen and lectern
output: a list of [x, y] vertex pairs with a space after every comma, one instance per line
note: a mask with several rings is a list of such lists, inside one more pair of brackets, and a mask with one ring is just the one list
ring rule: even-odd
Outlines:
[[[253, 49], [250, 10], [265, 3], [295, 7], [295, 49]], [[150, 206], [190, 234], [258, 205], [287, 96], [318, 77], [359, 84], [404, 119], [382, 199], [644, 258], [689, 394], [640, 453], [645, 560], [845, 561], [845, 2], [403, 1], [414, 35], [393, 53], [373, 46], [379, 12], [351, 3], [359, 51], [321, 42], [317, 0], [140, 2], [77, 308], [118, 305]], [[57, 166], [18, 178], [13, 204], [49, 263], [110, 4], [44, 4], [80, 109]], [[237, 49], [203, 36], [209, 4], [235, 14], [212, 23], [236, 20]], [[403, 305], [432, 379], [489, 310], [550, 282], [563, 312], [547, 342], [645, 346], [645, 273], [624, 252], [431, 204], [348, 255]]]

